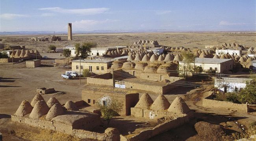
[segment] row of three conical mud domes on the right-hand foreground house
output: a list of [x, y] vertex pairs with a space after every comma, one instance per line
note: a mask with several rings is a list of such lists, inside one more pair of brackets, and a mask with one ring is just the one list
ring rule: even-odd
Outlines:
[[186, 114], [191, 111], [185, 101], [180, 96], [177, 96], [170, 104], [169, 101], [162, 94], [160, 94], [156, 98], [156, 100], [153, 101], [147, 93], [141, 96], [134, 108], [144, 108], [155, 111], [165, 110], [167, 112], [172, 112], [176, 114]]

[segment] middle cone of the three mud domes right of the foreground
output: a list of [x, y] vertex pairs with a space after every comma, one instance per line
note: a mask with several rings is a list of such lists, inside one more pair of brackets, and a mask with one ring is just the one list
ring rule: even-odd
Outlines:
[[151, 105], [152, 110], [165, 110], [168, 109], [170, 106], [169, 101], [163, 96], [163, 94], [160, 94], [154, 103]]

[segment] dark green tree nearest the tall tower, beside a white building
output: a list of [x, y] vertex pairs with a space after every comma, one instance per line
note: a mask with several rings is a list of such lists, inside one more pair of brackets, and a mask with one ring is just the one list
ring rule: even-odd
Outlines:
[[91, 52], [91, 48], [96, 47], [97, 43], [94, 42], [86, 42], [86, 43], [76, 43], [76, 57], [87, 58], [88, 53]]

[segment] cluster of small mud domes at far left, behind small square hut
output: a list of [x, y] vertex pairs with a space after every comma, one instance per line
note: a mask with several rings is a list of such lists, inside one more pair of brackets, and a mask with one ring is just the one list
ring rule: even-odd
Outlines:
[[10, 54], [10, 58], [24, 58], [24, 59], [32, 59], [36, 58], [36, 56], [41, 56], [37, 50], [16, 50]]

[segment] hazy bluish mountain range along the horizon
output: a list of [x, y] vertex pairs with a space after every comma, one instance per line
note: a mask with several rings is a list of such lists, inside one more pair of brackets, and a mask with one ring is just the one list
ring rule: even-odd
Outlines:
[[[152, 30], [94, 30], [94, 31], [73, 31], [73, 34], [87, 33], [167, 33], [167, 32], [218, 32], [218, 31], [176, 31], [167, 29]], [[219, 32], [249, 32], [249, 31], [219, 31]], [[255, 33], [255, 31], [250, 31]], [[37, 35], [37, 34], [67, 34], [67, 31], [13, 31], [0, 32], [0, 35]]]

